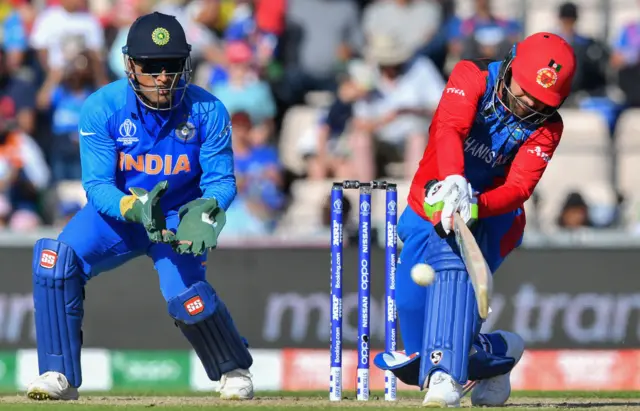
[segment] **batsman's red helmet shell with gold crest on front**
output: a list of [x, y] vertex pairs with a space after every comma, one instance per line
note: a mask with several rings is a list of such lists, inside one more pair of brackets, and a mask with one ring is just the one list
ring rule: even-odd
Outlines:
[[535, 33], [516, 44], [513, 79], [531, 96], [559, 107], [571, 92], [576, 71], [573, 48], [552, 33]]

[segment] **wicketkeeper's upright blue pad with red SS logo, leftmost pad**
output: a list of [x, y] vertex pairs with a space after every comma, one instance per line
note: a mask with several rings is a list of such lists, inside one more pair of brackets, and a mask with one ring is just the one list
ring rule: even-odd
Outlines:
[[85, 280], [76, 253], [56, 240], [40, 239], [32, 269], [40, 374], [57, 371], [80, 387]]

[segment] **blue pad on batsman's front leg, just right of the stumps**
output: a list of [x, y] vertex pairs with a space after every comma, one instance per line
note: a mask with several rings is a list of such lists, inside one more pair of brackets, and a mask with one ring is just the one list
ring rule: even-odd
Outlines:
[[427, 287], [425, 327], [420, 362], [420, 387], [441, 370], [459, 384], [467, 382], [469, 352], [482, 325], [476, 297], [466, 271], [443, 270]]

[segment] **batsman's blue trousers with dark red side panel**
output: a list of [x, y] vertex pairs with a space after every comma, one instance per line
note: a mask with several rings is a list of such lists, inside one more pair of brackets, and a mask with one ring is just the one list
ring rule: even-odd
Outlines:
[[[481, 219], [473, 229], [476, 241], [495, 273], [505, 257], [522, 242], [524, 212]], [[427, 289], [411, 279], [411, 268], [418, 263], [430, 263], [437, 256], [433, 250], [457, 253], [454, 238], [442, 239], [433, 224], [407, 207], [398, 221], [398, 238], [403, 248], [398, 259], [396, 278], [396, 304], [400, 334], [407, 353], [421, 352], [425, 324]], [[452, 256], [453, 257], [453, 256]]]

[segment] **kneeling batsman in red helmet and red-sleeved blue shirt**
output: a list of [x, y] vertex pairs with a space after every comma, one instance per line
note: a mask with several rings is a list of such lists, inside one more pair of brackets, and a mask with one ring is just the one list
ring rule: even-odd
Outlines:
[[[398, 222], [404, 243], [396, 298], [404, 353], [375, 359], [400, 380], [426, 389], [424, 405], [499, 406], [524, 352], [517, 334], [481, 334], [482, 319], [452, 233], [459, 213], [492, 273], [522, 242], [524, 203], [560, 142], [558, 113], [576, 59], [551, 33], [515, 44], [502, 61], [463, 60], [453, 69], [429, 130], [429, 143]], [[411, 280], [415, 264], [435, 271], [431, 285]]]

